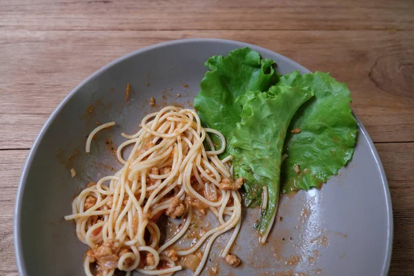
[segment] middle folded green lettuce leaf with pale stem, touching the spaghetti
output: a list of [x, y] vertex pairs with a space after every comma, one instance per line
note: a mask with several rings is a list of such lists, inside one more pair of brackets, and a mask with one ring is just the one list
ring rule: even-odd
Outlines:
[[262, 234], [271, 227], [279, 202], [286, 130], [295, 112], [312, 96], [311, 90], [273, 86], [268, 92], [247, 92], [237, 98], [237, 103], [243, 106], [242, 121], [234, 129], [230, 151], [234, 157], [235, 175], [246, 178], [244, 203], [251, 205], [261, 195], [263, 186], [268, 189], [266, 209], [257, 226]]

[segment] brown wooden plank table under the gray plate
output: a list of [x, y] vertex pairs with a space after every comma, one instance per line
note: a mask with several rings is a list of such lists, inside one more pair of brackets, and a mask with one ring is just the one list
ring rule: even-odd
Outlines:
[[14, 199], [50, 113], [109, 61], [184, 38], [254, 43], [346, 81], [394, 212], [390, 275], [414, 275], [414, 1], [0, 0], [0, 275], [17, 275]]

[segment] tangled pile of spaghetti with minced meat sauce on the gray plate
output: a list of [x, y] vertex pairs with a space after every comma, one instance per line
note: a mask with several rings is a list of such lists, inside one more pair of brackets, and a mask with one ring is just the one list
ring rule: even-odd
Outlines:
[[[99, 126], [95, 133], [112, 123]], [[201, 127], [195, 110], [168, 106], [141, 121], [134, 135], [117, 150], [124, 166], [115, 175], [90, 183], [72, 202], [76, 233], [90, 247], [84, 259], [86, 275], [111, 276], [115, 270], [146, 275], [166, 275], [181, 270], [192, 260], [194, 275], [206, 264], [214, 240], [233, 229], [221, 257], [228, 257], [241, 224], [239, 192], [244, 179], [233, 180], [231, 157], [220, 160], [226, 140], [217, 130]], [[95, 133], [91, 133], [93, 137]], [[208, 133], [221, 139], [216, 150]], [[88, 139], [89, 140], [89, 139]], [[208, 149], [204, 147], [208, 144]], [[88, 146], [89, 145], [89, 146]], [[132, 151], [127, 159], [123, 152]], [[90, 142], [86, 151], [90, 148]], [[192, 214], [210, 210], [217, 226], [199, 237], [190, 248], [172, 248], [190, 228]], [[181, 228], [164, 244], [157, 218], [161, 214], [184, 219]]]

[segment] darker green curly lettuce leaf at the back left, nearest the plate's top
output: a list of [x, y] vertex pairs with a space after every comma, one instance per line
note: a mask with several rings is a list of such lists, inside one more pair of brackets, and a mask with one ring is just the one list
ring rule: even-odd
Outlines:
[[[201, 90], [194, 99], [203, 124], [219, 130], [230, 141], [242, 113], [242, 106], [235, 99], [249, 90], [266, 91], [273, 86], [280, 77], [273, 70], [273, 63], [270, 59], [260, 59], [259, 53], [250, 48], [233, 50], [227, 57], [210, 57], [204, 64], [210, 71], [206, 72], [200, 83]], [[228, 143], [221, 158], [226, 155]]]

